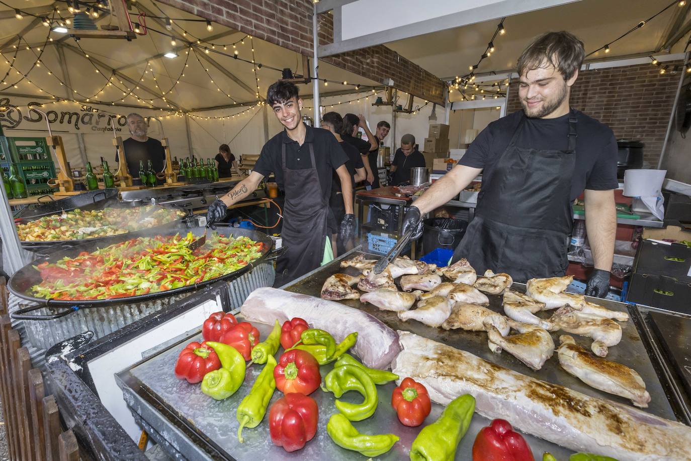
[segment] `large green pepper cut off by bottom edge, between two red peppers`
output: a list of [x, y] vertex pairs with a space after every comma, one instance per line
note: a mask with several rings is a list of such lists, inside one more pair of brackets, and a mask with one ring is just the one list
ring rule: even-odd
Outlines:
[[461, 395], [451, 401], [439, 419], [425, 426], [410, 446], [412, 461], [453, 461], [475, 413], [475, 397]]

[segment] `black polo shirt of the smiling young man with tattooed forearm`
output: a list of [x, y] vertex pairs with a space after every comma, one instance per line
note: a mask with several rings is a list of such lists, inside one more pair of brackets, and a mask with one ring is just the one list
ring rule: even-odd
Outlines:
[[305, 128], [307, 133], [303, 145], [290, 139], [285, 130], [271, 138], [261, 149], [252, 171], [256, 171], [262, 176], [269, 176], [269, 174], [274, 173], [278, 187], [285, 189], [281, 146], [285, 144], [285, 167], [287, 169], [310, 169], [312, 168], [312, 161], [310, 160], [309, 144], [312, 142], [321, 191], [323, 196], [328, 198], [331, 194], [332, 171], [348, 162], [348, 156], [345, 155], [339, 142], [330, 131], [307, 125]]

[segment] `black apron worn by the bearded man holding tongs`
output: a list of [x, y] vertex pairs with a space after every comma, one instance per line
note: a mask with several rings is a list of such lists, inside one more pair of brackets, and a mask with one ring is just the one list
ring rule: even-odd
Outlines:
[[506, 272], [513, 281], [562, 276], [573, 227], [571, 177], [576, 164], [576, 115], [569, 116], [566, 151], [515, 145], [522, 118], [491, 177], [482, 178], [475, 218], [453, 253], [477, 274]]

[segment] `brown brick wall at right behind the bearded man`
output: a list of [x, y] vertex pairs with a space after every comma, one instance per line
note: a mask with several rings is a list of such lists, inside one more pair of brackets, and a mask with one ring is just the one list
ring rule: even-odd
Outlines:
[[[681, 62], [665, 63], [668, 65]], [[507, 111], [520, 109], [518, 79], [511, 81]], [[679, 73], [652, 64], [584, 70], [571, 89], [571, 106], [603, 122], [617, 139], [645, 143], [645, 167], [657, 167], [670, 121]]]

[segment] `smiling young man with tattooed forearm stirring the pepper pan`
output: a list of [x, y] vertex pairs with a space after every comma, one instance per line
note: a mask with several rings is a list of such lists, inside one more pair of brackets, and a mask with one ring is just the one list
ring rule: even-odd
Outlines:
[[[278, 187], [285, 191], [281, 237], [286, 250], [276, 261], [274, 282], [280, 287], [330, 261], [330, 235], [338, 232], [339, 238], [348, 241], [354, 234], [355, 216], [352, 181], [345, 167], [348, 156], [329, 131], [302, 122], [298, 87], [279, 80], [269, 86], [267, 104], [285, 130], [264, 145], [252, 173], [211, 204], [207, 220], [213, 224], [225, 218], [227, 207], [243, 200], [265, 176], [274, 173]], [[340, 225], [329, 207], [334, 170], [341, 180], [345, 205]]]

